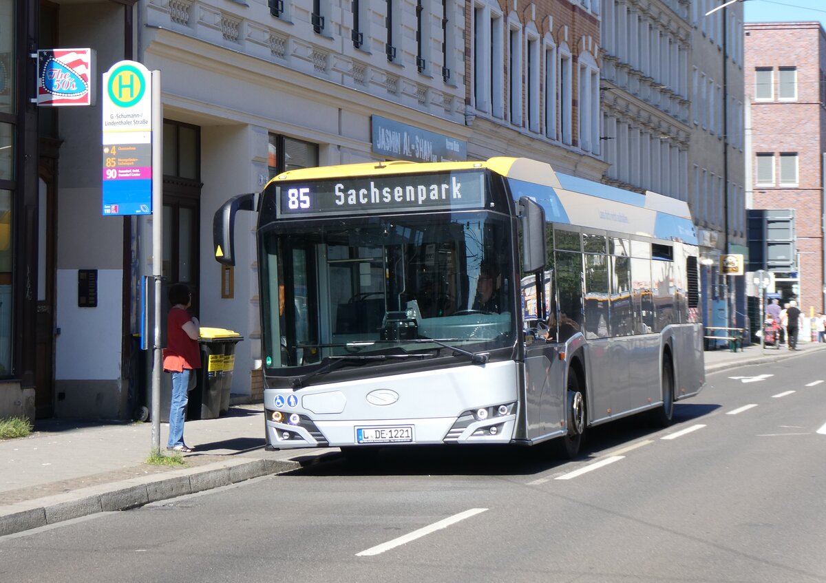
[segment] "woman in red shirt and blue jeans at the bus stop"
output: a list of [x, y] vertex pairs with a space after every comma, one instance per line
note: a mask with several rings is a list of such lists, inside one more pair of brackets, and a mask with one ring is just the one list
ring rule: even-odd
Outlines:
[[169, 441], [167, 449], [189, 453], [192, 448], [183, 443], [183, 421], [187, 415], [190, 377], [201, 368], [201, 351], [198, 348], [200, 324], [187, 311], [192, 306], [192, 294], [183, 283], [169, 287], [169, 303], [172, 309], [166, 320], [166, 344], [164, 371], [172, 373], [172, 404], [169, 407]]

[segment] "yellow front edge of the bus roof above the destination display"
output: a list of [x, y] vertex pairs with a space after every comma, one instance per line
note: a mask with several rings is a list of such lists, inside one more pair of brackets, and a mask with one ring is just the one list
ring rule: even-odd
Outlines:
[[488, 168], [509, 178], [521, 178], [559, 187], [559, 182], [550, 165], [525, 158], [497, 156], [488, 160], [468, 160], [465, 162], [363, 162], [359, 164], [339, 164], [317, 168], [297, 168], [287, 170], [273, 178], [280, 180], [324, 180], [325, 178], [354, 178], [360, 176], [381, 176], [382, 174], [415, 174], [430, 172], [451, 172]]

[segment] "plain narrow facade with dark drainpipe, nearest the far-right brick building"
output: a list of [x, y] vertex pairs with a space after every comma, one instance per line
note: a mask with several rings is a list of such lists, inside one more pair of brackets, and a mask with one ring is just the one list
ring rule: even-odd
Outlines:
[[745, 277], [721, 273], [724, 254], [748, 255], [745, 216], [743, 3], [691, 2], [689, 201], [700, 239], [703, 321], [746, 327]]

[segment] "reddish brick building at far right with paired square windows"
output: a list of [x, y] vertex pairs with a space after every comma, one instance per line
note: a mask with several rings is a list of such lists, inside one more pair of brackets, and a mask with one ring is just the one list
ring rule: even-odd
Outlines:
[[822, 311], [826, 32], [819, 22], [752, 22], [744, 30], [748, 206], [795, 210], [796, 269], [776, 273], [777, 292], [798, 298], [806, 314]]

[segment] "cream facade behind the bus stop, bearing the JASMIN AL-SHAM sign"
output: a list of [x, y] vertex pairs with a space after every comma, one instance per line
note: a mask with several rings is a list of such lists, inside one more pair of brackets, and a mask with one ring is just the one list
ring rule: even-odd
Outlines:
[[[0, 417], [129, 419], [147, 404], [136, 335], [155, 261], [191, 287], [202, 325], [244, 337], [232, 392], [260, 390], [254, 216], [239, 217], [228, 270], [212, 257], [214, 212], [289, 168], [467, 157], [464, 12], [452, 0], [0, 1]], [[159, 257], [151, 217], [102, 213], [99, 88], [93, 106], [30, 103], [28, 55], [58, 42], [96, 51], [96, 82], [122, 59], [160, 72]]]

